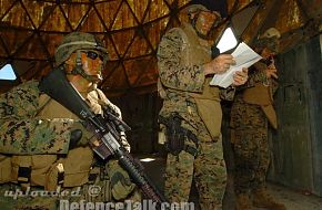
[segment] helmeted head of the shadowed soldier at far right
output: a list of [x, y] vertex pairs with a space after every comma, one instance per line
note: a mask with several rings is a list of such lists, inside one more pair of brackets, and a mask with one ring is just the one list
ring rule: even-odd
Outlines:
[[255, 48], [258, 51], [268, 48], [270, 51], [278, 53], [279, 52], [279, 39], [281, 38], [281, 33], [275, 28], [270, 28], [264, 33], [258, 36], [255, 41]]

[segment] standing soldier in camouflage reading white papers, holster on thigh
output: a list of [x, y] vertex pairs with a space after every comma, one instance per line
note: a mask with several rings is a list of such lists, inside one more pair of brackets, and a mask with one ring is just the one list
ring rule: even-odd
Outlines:
[[[165, 197], [172, 202], [188, 202], [194, 180], [203, 210], [221, 209], [227, 181], [220, 93], [231, 96], [231, 92], [221, 92], [209, 83], [213, 74], [225, 72], [234, 60], [230, 54], [212, 59], [207, 40], [225, 15], [221, 10], [224, 3], [192, 1], [185, 9], [189, 22], [168, 31], [158, 50], [159, 93], [163, 98], [160, 118], [164, 118], [160, 123], [165, 126], [169, 149]], [[234, 75], [234, 85], [244, 84], [246, 71]]]

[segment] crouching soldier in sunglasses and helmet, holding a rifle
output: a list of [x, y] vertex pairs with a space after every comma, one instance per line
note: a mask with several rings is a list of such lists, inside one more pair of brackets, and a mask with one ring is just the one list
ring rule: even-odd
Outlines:
[[[56, 67], [64, 69], [95, 114], [102, 114], [105, 106], [121, 117], [120, 109], [97, 88], [108, 59], [102, 42], [92, 34], [73, 32], [63, 38], [54, 57]], [[53, 210], [60, 199], [107, 202], [131, 195], [140, 200], [118, 162], [104, 162], [93, 154], [88, 143], [94, 137], [82, 122], [38, 85], [29, 81], [0, 95], [1, 210]], [[34, 196], [34, 191], [44, 196]], [[63, 191], [69, 195], [46, 193]]]

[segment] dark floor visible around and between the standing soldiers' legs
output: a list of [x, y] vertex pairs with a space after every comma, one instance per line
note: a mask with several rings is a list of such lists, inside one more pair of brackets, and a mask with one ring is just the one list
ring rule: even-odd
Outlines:
[[[154, 185], [162, 191], [163, 189], [163, 174], [165, 168], [164, 155], [133, 155], [139, 159], [152, 158], [153, 161], [142, 161], [148, 176], [154, 180]], [[234, 193], [232, 190], [232, 178], [229, 176], [228, 190], [223, 200], [224, 210], [234, 210]], [[269, 192], [279, 201], [282, 201], [288, 210], [322, 210], [322, 198], [309, 195], [301, 191], [295, 191], [290, 188], [279, 186], [275, 183], [268, 183]], [[192, 189], [191, 201], [198, 202], [197, 190]], [[199, 210], [199, 208], [195, 208]], [[254, 209], [260, 210], [260, 209]]]

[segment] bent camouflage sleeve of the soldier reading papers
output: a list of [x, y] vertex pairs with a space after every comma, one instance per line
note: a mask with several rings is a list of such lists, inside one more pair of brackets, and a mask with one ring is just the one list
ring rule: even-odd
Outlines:
[[158, 48], [158, 67], [161, 83], [168, 88], [202, 92], [204, 83], [202, 65], [183, 63], [182, 50], [187, 43], [180, 28], [163, 35]]

